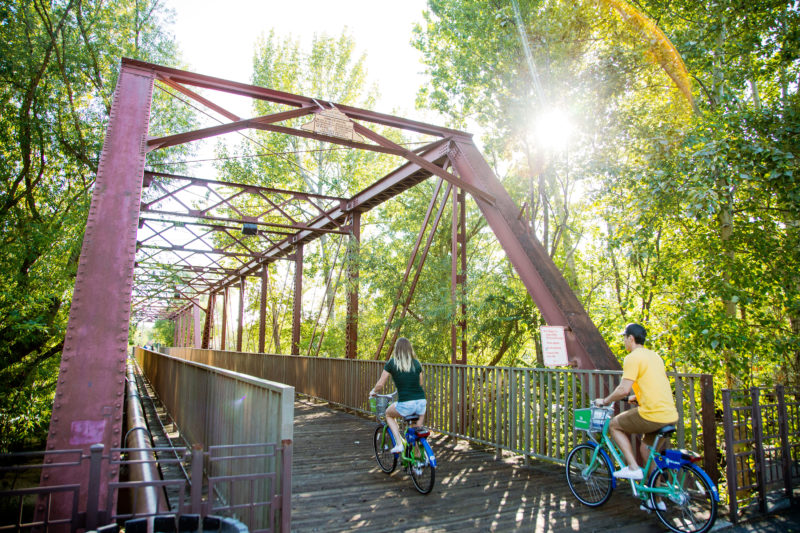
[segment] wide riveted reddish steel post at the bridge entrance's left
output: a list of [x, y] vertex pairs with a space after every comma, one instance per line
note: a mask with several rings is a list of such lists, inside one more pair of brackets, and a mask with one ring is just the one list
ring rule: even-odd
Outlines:
[[[80, 449], [88, 454], [94, 444], [109, 450], [112, 460], [104, 462], [99, 477], [101, 509], [116, 506], [114, 496], [109, 501], [108, 485], [119, 478], [114, 464], [119, 452], [112, 448], [118, 448], [122, 438], [128, 323], [153, 79], [152, 69], [123, 65], [117, 80], [47, 436], [48, 450]], [[79, 509], [85, 511], [88, 479], [88, 466], [43, 469], [41, 484], [80, 480]], [[54, 495], [49, 519], [69, 518], [70, 500]]]

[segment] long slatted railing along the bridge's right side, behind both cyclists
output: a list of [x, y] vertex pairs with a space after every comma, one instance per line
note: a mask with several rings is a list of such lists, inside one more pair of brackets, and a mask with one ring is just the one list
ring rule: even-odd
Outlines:
[[[300, 394], [369, 414], [367, 394], [383, 361], [169, 348], [191, 361], [295, 387]], [[426, 425], [435, 431], [508, 450], [526, 458], [564, 462], [585, 437], [573, 410], [588, 406], [619, 382], [619, 371], [423, 364]], [[678, 413], [675, 446], [705, 457], [716, 481], [714, 389], [708, 375], [669, 374]], [[709, 438], [704, 438], [708, 435]]]

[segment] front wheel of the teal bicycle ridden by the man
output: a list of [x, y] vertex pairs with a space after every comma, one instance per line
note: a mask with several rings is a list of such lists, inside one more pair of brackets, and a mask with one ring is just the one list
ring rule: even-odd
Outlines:
[[567, 456], [567, 484], [578, 501], [589, 507], [606, 503], [614, 490], [611, 465], [605, 455], [597, 454], [590, 444], [575, 446]]

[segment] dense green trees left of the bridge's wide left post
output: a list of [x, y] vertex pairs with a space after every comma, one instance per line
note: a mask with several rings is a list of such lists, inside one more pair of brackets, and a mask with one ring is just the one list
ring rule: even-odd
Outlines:
[[43, 438], [47, 429], [120, 58], [174, 63], [175, 46], [163, 30], [167, 15], [157, 0], [0, 7], [4, 451]]

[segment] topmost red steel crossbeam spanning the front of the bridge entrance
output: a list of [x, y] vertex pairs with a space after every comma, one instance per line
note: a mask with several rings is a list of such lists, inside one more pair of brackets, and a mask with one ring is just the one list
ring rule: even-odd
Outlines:
[[[246, 83], [239, 83], [235, 81], [224, 80], [222, 78], [215, 78], [213, 76], [195, 74], [194, 72], [188, 72], [185, 70], [164, 67], [161, 65], [156, 65], [154, 63], [147, 63], [145, 61], [123, 58], [122, 64], [137, 66], [142, 69], [151, 70], [159, 78], [169, 78], [175, 83], [182, 83], [185, 85], [192, 85], [195, 87], [204, 87], [206, 89], [213, 89], [216, 91], [223, 91], [227, 93], [238, 94], [241, 96], [248, 96], [250, 98], [258, 98], [260, 100], [267, 100], [277, 104], [286, 104], [295, 107], [308, 107], [312, 105], [317, 107], [319, 106], [318, 101], [316, 101], [313, 98], [308, 98], [307, 96], [299, 96], [296, 94], [286, 93], [283, 91], [276, 91], [274, 89], [266, 89], [264, 87], [258, 87]], [[331, 103], [329, 102], [325, 103], [328, 104], [328, 107], [331, 106]], [[465, 133], [459, 130], [443, 128], [440, 126], [434, 126], [432, 124], [426, 124], [424, 122], [417, 122], [415, 120], [408, 120], [400, 117], [395, 117], [392, 115], [378, 113], [376, 111], [359, 109], [357, 107], [350, 107], [342, 104], [333, 103], [333, 105], [335, 105], [336, 108], [339, 109], [339, 111], [357, 120], [364, 120], [367, 122], [382, 124], [384, 126], [389, 126], [393, 128], [416, 131], [418, 133], [423, 133], [426, 135], [435, 135], [437, 137], [458, 137], [463, 139], [472, 138], [472, 135], [470, 135], [469, 133]]]

